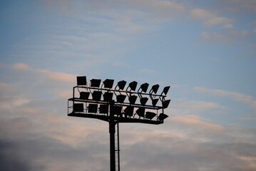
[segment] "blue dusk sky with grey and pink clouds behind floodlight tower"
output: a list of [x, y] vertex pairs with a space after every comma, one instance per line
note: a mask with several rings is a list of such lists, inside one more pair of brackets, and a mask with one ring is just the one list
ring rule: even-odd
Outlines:
[[0, 170], [109, 170], [76, 76], [171, 86], [164, 124], [119, 125], [121, 170], [256, 170], [255, 0], [1, 0], [0, 36]]

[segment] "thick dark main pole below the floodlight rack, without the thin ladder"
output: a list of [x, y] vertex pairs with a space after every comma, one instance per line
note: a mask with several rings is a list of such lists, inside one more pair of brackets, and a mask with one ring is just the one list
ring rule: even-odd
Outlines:
[[110, 149], [111, 149], [111, 171], [116, 171], [116, 156], [115, 156], [115, 125], [113, 119], [109, 121], [109, 134], [110, 134]]

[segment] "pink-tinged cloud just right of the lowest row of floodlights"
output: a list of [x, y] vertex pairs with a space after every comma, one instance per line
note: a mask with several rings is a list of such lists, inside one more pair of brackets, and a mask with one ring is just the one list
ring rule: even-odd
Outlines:
[[202, 128], [208, 128], [211, 130], [224, 130], [224, 127], [220, 125], [205, 123], [200, 119], [201, 118], [197, 115], [183, 115], [183, 116], [176, 116], [176, 117], [170, 118], [170, 120], [173, 122], [183, 123], [186, 125], [196, 125], [196, 126], [200, 126]]

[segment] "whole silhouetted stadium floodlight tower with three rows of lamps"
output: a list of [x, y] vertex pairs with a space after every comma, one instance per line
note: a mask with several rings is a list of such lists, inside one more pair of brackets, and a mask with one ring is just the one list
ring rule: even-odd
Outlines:
[[[100, 79], [92, 79], [89, 84], [86, 76], [78, 76], [76, 80], [73, 97], [68, 99], [68, 116], [95, 118], [109, 123], [110, 168], [111, 171], [120, 170], [119, 123], [162, 124], [168, 118], [164, 109], [170, 103], [170, 100], [165, 100], [170, 86], [157, 94], [158, 84], [152, 86], [147, 93], [148, 83], [143, 83], [135, 91], [138, 84], [136, 81], [127, 87], [126, 81], [119, 81], [113, 88], [114, 80], [111, 79], [102, 83]], [[137, 98], [140, 103], [136, 103]], [[152, 105], [148, 104], [149, 99]]]

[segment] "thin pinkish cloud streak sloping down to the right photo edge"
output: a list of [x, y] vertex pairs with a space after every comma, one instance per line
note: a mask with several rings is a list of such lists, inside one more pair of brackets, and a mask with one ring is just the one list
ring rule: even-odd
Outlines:
[[242, 103], [246, 103], [251, 108], [256, 109], [256, 100], [251, 95], [245, 95], [245, 94], [237, 93], [237, 92], [233, 92], [233, 91], [209, 89], [209, 88], [203, 88], [203, 87], [195, 87], [194, 90], [196, 90], [200, 93], [210, 93], [212, 95], [217, 95], [217, 96], [222, 96], [222, 97], [230, 97], [233, 100], [240, 101]]

